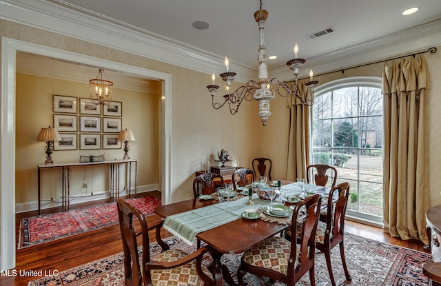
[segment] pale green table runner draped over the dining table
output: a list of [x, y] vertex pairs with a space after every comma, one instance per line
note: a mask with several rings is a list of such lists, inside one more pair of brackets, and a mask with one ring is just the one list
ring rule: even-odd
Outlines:
[[[178, 238], [181, 238], [185, 243], [192, 245], [196, 234], [205, 232], [208, 229], [225, 225], [236, 221], [245, 212], [245, 209], [253, 206], [245, 205], [248, 197], [240, 198], [236, 201], [216, 203], [214, 205], [207, 205], [207, 207], [200, 207], [195, 210], [181, 212], [180, 214], [173, 214], [167, 216], [164, 221], [164, 229], [171, 232]], [[261, 200], [260, 198], [253, 198], [253, 202], [258, 205], [269, 205], [269, 201]]]

